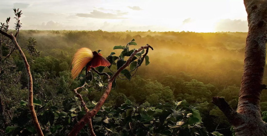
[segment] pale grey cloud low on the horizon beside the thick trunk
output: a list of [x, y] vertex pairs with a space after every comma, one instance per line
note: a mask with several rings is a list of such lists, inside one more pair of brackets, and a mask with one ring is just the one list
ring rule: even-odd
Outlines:
[[216, 32], [248, 32], [247, 20], [222, 19], [215, 26]]

